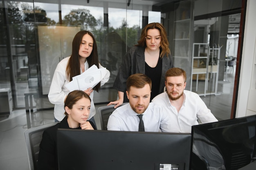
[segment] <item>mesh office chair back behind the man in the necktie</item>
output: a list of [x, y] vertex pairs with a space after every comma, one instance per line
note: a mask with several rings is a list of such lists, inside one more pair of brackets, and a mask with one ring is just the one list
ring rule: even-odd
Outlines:
[[[123, 103], [121, 106], [128, 104], [128, 103]], [[99, 121], [101, 124], [101, 130], [107, 130], [107, 125], [108, 125], [108, 118], [112, 114], [114, 110], [115, 104], [109, 105], [109, 106], [101, 106], [98, 108], [99, 112]], [[119, 106], [120, 107], [120, 106]]]

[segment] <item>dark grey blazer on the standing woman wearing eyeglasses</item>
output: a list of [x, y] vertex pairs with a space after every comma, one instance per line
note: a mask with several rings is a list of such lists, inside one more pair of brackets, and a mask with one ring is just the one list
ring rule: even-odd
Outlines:
[[[121, 66], [117, 73], [113, 87], [117, 91], [126, 92], [126, 79], [135, 73], [145, 74], [145, 48], [139, 46], [133, 46], [127, 53], [124, 55]], [[169, 68], [173, 67], [173, 58], [171, 56], [166, 56], [162, 58], [162, 74], [161, 82], [159, 86], [159, 94], [164, 92], [164, 81], [165, 73]], [[126, 95], [124, 95], [124, 102], [128, 102]]]

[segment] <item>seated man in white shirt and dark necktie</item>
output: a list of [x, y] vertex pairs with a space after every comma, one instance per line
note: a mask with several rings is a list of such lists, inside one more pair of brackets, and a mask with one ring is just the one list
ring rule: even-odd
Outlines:
[[170, 132], [170, 119], [162, 106], [150, 103], [151, 79], [141, 73], [126, 82], [129, 104], [117, 108], [108, 119], [108, 130]]

